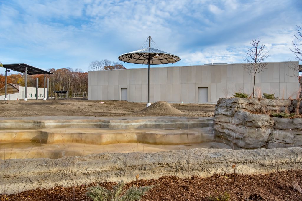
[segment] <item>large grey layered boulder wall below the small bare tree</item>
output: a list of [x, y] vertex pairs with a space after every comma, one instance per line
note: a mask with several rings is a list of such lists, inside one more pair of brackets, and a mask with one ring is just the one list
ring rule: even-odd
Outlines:
[[214, 114], [214, 128], [233, 148], [301, 147], [301, 118], [284, 119], [250, 112], [286, 112], [291, 100], [220, 98]]

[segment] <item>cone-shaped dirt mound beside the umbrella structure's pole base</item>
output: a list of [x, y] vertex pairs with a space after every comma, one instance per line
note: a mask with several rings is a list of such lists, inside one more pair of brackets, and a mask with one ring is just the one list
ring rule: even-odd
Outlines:
[[176, 108], [172, 107], [166, 101], [157, 101], [153, 103], [149, 107], [140, 110], [140, 112], [149, 114], [149, 115], [182, 115], [183, 112], [177, 110]]

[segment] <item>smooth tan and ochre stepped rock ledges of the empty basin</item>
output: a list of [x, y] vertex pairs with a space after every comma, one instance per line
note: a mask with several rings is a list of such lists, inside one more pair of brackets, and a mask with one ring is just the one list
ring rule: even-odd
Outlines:
[[188, 144], [190, 148], [230, 148], [214, 138], [211, 117], [0, 118], [1, 143], [13, 145], [1, 145], [1, 159], [146, 153], [187, 149]]

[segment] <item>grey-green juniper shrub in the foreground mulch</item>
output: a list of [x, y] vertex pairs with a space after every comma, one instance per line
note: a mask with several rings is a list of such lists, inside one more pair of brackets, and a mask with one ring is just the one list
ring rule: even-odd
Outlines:
[[101, 186], [93, 186], [88, 188], [86, 195], [93, 201], [127, 201], [127, 200], [140, 200], [141, 197], [153, 188], [153, 186], [143, 186], [137, 188], [132, 186], [129, 188], [124, 195], [121, 196], [122, 188], [124, 187], [123, 182], [119, 182], [113, 187], [112, 190], [108, 190]]

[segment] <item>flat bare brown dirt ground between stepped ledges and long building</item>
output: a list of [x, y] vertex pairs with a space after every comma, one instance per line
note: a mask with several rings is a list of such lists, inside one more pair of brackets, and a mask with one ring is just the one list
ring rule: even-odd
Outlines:
[[[52, 105], [50, 100], [10, 100], [1, 101], [0, 117], [19, 116], [150, 116], [139, 111], [146, 103], [127, 101], [92, 101], [87, 99], [59, 99]], [[182, 111], [178, 116], [214, 116], [215, 105], [210, 104], [171, 104]], [[151, 116], [162, 116], [154, 114]], [[166, 115], [168, 116], [168, 115]]]

